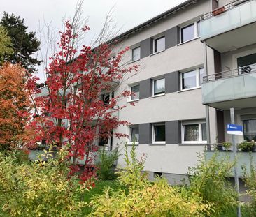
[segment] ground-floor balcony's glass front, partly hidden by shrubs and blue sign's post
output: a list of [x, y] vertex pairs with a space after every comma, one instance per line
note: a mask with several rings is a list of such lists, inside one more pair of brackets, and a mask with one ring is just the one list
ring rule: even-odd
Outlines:
[[[210, 160], [216, 152], [216, 145], [215, 144], [206, 144], [206, 150], [204, 151], [206, 161]], [[252, 161], [250, 162], [250, 158]], [[233, 151], [218, 151], [218, 160], [222, 160], [223, 162], [230, 162], [234, 163], [234, 154]], [[240, 178], [243, 177], [243, 170], [242, 167], [246, 168], [246, 172], [250, 172], [250, 164], [256, 163], [256, 152], [244, 152], [244, 151], [237, 151], [236, 156], [236, 168], [237, 173]], [[234, 170], [232, 170], [230, 177], [234, 177]]]

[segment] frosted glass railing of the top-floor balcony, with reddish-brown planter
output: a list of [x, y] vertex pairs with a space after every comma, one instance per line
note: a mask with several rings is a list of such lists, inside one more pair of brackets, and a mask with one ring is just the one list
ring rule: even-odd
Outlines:
[[256, 22], [256, 0], [236, 0], [201, 17], [201, 40]]

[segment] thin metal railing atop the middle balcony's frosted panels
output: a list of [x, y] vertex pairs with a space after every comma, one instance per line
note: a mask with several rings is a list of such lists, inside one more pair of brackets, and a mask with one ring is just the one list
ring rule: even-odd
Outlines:
[[239, 75], [246, 75], [248, 73], [256, 73], [256, 64], [243, 66], [235, 69], [225, 70], [220, 73], [207, 75], [203, 77], [203, 83], [218, 80], [220, 78], [236, 77]]

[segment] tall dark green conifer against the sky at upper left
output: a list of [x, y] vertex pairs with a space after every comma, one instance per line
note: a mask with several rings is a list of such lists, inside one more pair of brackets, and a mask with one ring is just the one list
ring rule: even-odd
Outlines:
[[0, 25], [8, 31], [14, 51], [10, 55], [0, 53], [0, 57], [11, 63], [20, 63], [23, 68], [30, 72], [34, 66], [40, 65], [41, 61], [31, 57], [35, 52], [38, 52], [40, 41], [36, 38], [35, 32], [27, 31], [24, 19], [13, 13], [8, 15], [8, 13], [4, 12]]

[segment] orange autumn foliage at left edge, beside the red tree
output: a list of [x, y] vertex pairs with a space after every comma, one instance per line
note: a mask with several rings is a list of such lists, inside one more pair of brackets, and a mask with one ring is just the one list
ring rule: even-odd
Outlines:
[[0, 68], [0, 149], [22, 144], [29, 100], [24, 84], [25, 70], [6, 63]]

